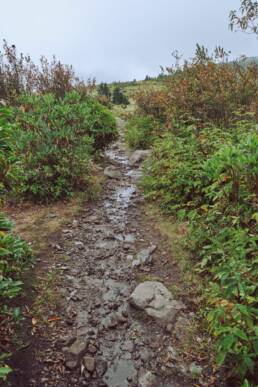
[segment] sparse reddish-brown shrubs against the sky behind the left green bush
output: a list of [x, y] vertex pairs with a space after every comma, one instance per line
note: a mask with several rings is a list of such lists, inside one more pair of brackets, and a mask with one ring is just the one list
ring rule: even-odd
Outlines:
[[52, 93], [63, 98], [66, 93], [77, 90], [88, 95], [95, 88], [95, 80], [85, 84], [72, 66], [65, 65], [53, 56], [49, 62], [44, 56], [35, 65], [29, 55], [19, 54], [15, 45], [3, 41], [0, 52], [0, 99], [15, 104], [24, 93]]

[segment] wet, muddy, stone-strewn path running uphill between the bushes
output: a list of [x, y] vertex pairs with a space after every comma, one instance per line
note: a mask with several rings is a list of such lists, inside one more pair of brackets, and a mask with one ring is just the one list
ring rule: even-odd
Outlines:
[[[194, 312], [167, 289], [180, 274], [166, 240], [146, 221], [140, 166], [130, 165], [122, 136], [106, 157], [113, 177], [101, 199], [86, 205], [54, 246], [66, 257], [52, 267], [61, 271], [58, 321], [30, 374], [18, 374], [13, 385], [211, 385], [203, 363], [181, 344]], [[132, 296], [140, 283], [145, 287]], [[198, 346], [201, 338], [192, 340]]]

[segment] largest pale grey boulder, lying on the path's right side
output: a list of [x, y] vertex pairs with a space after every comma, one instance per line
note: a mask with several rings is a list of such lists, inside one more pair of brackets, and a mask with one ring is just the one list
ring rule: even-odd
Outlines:
[[162, 323], [173, 321], [179, 310], [184, 308], [184, 305], [174, 300], [168, 289], [157, 281], [139, 284], [131, 294], [129, 302]]

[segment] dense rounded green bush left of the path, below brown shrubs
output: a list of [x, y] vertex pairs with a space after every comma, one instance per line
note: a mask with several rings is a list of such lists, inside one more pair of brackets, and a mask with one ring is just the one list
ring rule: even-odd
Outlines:
[[117, 135], [111, 113], [77, 92], [63, 99], [25, 95], [18, 101], [9, 122], [22, 168], [19, 195], [49, 201], [90, 190], [91, 158]]

